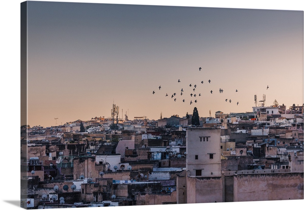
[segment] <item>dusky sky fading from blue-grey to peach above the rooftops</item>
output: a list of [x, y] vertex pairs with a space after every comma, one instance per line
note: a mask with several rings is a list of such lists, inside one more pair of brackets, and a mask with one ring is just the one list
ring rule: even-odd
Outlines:
[[129, 119], [252, 112], [263, 94], [303, 104], [303, 11], [28, 4], [30, 126], [110, 117], [113, 101]]

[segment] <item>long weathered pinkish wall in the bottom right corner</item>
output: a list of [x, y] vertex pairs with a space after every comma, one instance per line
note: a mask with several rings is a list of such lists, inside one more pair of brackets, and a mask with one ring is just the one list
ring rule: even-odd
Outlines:
[[233, 201], [303, 199], [303, 173], [234, 174]]

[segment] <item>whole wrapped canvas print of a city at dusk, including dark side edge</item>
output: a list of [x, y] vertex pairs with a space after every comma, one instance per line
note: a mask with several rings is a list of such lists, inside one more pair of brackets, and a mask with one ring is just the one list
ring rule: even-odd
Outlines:
[[20, 6], [22, 208], [303, 199], [303, 11]]

